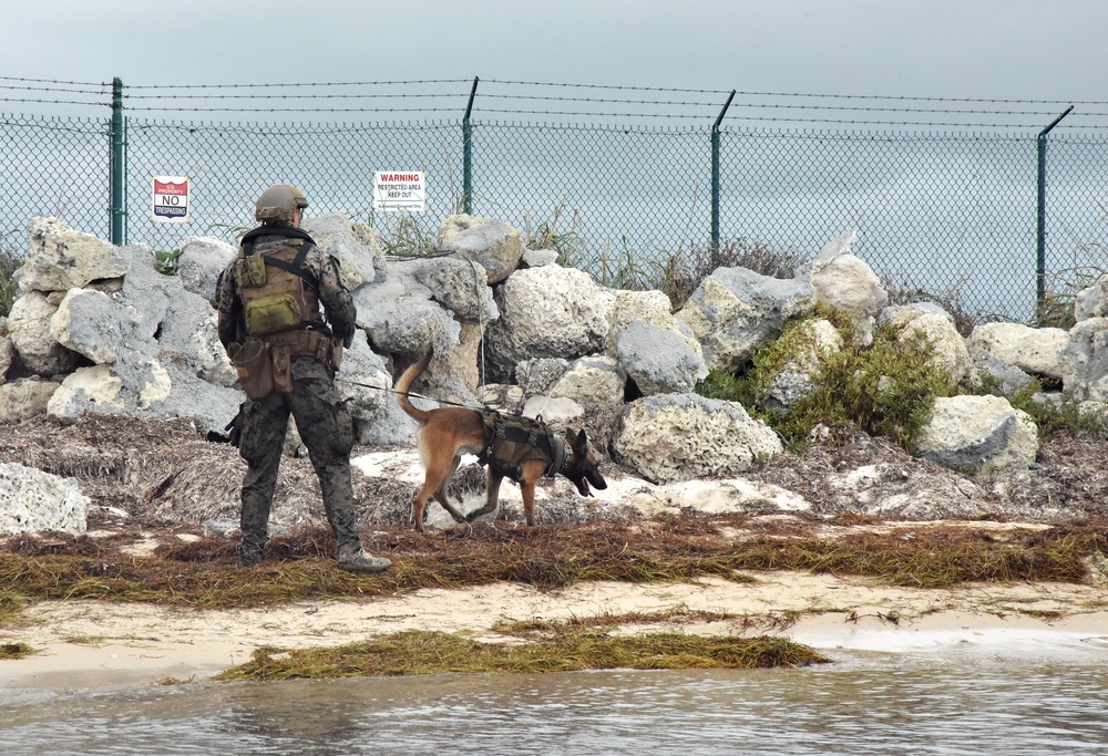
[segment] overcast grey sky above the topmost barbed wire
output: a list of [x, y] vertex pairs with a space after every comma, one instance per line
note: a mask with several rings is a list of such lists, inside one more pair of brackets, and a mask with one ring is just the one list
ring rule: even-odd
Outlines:
[[1108, 100], [1105, 0], [35, 0], [0, 75]]

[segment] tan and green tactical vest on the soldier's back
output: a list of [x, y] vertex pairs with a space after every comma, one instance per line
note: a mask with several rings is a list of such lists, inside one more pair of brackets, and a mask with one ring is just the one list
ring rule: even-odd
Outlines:
[[246, 332], [264, 336], [322, 321], [318, 282], [304, 267], [314, 244], [290, 239], [285, 247], [253, 252], [250, 241], [244, 239], [233, 268], [243, 297]]

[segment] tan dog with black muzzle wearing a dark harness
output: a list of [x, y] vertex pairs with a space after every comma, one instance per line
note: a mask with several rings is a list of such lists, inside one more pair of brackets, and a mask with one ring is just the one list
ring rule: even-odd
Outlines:
[[[423, 463], [424, 478], [412, 499], [416, 529], [423, 531], [423, 516], [428, 500], [435, 501], [450, 512], [455, 522], [472, 522], [482, 515], [495, 511], [500, 500], [500, 484], [511, 477], [520, 484], [527, 525], [535, 524], [535, 484], [546, 475], [564, 475], [577, 487], [582, 496], [592, 496], [593, 488], [608, 487], [601, 475], [599, 463], [588, 446], [584, 429], [567, 431], [557, 437], [547, 434], [545, 425], [532, 421], [541, 432], [521, 431], [516, 416], [502, 415], [492, 410], [470, 407], [439, 407], [420, 410], [408, 398], [408, 390], [431, 363], [431, 354], [411, 365], [393, 386], [397, 404], [420, 424], [418, 448]], [[522, 424], [526, 424], [524, 421]], [[520, 441], [530, 436], [533, 443]], [[511, 445], [514, 444], [514, 447]], [[480, 509], [462, 515], [447, 496], [447, 488], [463, 454], [478, 455], [488, 465], [488, 498]]]

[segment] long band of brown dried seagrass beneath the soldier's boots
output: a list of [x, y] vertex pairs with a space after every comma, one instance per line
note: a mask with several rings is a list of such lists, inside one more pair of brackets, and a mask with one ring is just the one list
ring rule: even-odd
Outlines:
[[[671, 517], [526, 528], [482, 524], [441, 535], [379, 531], [367, 539], [393, 568], [377, 576], [336, 569], [334, 543], [312, 530], [271, 542], [260, 567], [234, 566], [233, 539], [176, 541], [148, 558], [129, 540], [14, 538], [0, 543], [0, 583], [25, 599], [101, 599], [207, 609], [310, 598], [353, 599], [520, 582], [557, 589], [587, 581], [657, 583], [702, 577], [750, 581], [748, 572], [799, 570], [942, 588], [978, 581], [1081, 582], [1088, 559], [1108, 553], [1108, 525], [1086, 520], [1006, 531], [917, 524], [911, 529], [820, 536], [821, 522], [748, 527], [751, 518]], [[774, 527], [778, 530], [774, 532]], [[13, 609], [12, 611], [18, 611]]]

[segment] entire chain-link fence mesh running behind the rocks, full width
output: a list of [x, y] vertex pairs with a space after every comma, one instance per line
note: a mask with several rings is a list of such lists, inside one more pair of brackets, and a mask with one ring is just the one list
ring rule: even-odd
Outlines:
[[[472, 123], [472, 211], [532, 238], [555, 238], [597, 278], [648, 282], [674, 255], [711, 244], [711, 132], [572, 124]], [[109, 237], [107, 120], [0, 116], [0, 230], [25, 246], [30, 216], [55, 215]], [[983, 317], [1028, 321], [1037, 283], [1034, 135], [722, 128], [720, 241], [739, 237], [813, 257], [858, 230], [854, 251], [888, 282], [957, 292]], [[234, 241], [276, 182], [299, 186], [309, 214], [342, 213], [386, 239], [433, 244], [463, 197], [460, 121], [175, 123], [129, 118], [126, 241], [172, 250], [189, 236]], [[1051, 135], [1047, 289], [1108, 268], [1108, 138]], [[378, 170], [423, 170], [429, 206], [373, 213]], [[187, 225], [151, 220], [151, 179], [188, 176]]]

